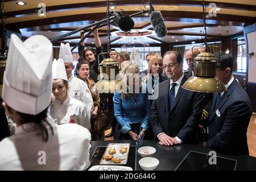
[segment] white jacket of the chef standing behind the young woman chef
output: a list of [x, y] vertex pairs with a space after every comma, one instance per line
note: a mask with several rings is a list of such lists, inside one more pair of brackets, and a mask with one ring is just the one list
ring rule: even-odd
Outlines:
[[72, 98], [76, 98], [84, 102], [88, 109], [92, 112], [94, 110], [94, 104], [88, 85], [84, 81], [74, 77], [73, 75], [70, 78], [68, 78], [68, 85], [69, 95]]

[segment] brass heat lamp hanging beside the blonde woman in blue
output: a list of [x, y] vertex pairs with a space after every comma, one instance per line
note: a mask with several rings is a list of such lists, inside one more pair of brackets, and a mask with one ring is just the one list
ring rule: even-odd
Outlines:
[[99, 68], [100, 80], [93, 86], [93, 92], [114, 93], [115, 91], [127, 90], [127, 84], [118, 77], [119, 64], [115, 59], [102, 60]]

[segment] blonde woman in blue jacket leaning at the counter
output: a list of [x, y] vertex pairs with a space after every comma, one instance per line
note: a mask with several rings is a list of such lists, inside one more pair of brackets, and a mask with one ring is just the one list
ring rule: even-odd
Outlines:
[[121, 78], [127, 81], [129, 89], [114, 93], [114, 115], [118, 122], [114, 137], [136, 140], [148, 130], [150, 101], [146, 84], [140, 81], [139, 67], [134, 63], [125, 65]]

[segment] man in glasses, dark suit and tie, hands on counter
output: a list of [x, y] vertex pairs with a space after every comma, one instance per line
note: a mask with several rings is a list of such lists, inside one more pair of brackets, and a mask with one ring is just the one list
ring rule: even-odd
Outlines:
[[197, 143], [196, 127], [202, 114], [203, 96], [181, 87], [188, 78], [183, 74], [183, 57], [179, 52], [166, 52], [163, 65], [170, 79], [155, 90], [158, 98], [152, 102], [150, 110], [154, 137], [165, 146]]

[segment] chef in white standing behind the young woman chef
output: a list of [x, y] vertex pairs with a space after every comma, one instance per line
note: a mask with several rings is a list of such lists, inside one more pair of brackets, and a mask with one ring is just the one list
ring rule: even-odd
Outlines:
[[94, 110], [94, 105], [88, 85], [86, 85], [84, 81], [72, 75], [72, 70], [75, 68], [75, 66], [73, 65], [73, 55], [71, 53], [69, 43], [60, 44], [59, 59], [63, 59], [65, 64], [65, 69], [68, 76], [69, 95], [84, 102], [92, 113], [92, 111]]

